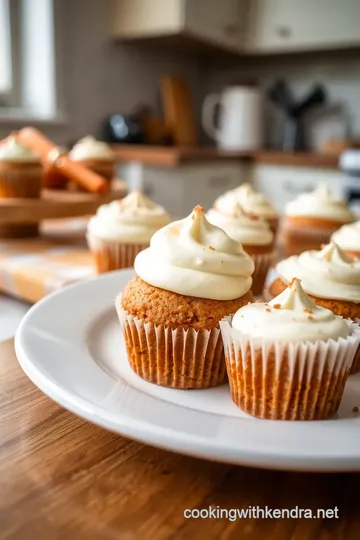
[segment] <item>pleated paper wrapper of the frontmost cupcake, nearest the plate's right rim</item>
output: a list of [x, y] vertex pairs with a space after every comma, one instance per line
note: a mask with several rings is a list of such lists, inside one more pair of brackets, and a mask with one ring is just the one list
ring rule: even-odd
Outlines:
[[[344, 319], [345, 320], [345, 319]], [[281, 343], [251, 338], [220, 321], [231, 396], [243, 411], [273, 420], [332, 417], [359, 345], [359, 327], [336, 341]]]

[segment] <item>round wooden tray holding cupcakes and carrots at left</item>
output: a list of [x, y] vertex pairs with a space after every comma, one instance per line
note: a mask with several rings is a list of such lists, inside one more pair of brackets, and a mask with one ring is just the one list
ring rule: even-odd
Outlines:
[[0, 224], [36, 224], [43, 219], [85, 216], [125, 195], [125, 183], [116, 182], [106, 195], [44, 189], [41, 199], [0, 199]]

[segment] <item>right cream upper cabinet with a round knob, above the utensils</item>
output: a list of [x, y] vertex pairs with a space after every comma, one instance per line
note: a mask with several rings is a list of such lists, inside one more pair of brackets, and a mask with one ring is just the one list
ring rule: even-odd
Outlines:
[[360, 43], [359, 0], [252, 0], [247, 50], [291, 52]]

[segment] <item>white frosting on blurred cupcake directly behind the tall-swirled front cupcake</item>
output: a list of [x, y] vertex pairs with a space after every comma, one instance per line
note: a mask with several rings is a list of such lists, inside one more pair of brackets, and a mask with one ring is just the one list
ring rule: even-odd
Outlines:
[[273, 241], [274, 235], [268, 222], [261, 218], [246, 216], [235, 199], [229, 203], [226, 214], [212, 208], [207, 217], [210, 223], [224, 229], [230, 238], [241, 244], [267, 246]]

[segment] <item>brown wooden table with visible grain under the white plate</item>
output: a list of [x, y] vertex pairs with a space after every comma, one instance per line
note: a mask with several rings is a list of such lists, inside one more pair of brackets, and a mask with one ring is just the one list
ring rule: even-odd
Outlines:
[[[183, 457], [65, 411], [0, 345], [1, 540], [358, 540], [358, 474], [300, 474]], [[185, 519], [185, 509], [334, 509], [339, 519]]]

